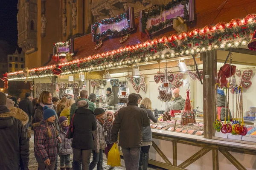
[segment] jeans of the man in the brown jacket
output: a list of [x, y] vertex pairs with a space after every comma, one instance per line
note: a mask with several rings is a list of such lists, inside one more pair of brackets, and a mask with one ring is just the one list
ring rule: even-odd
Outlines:
[[122, 153], [125, 160], [125, 168], [127, 170], [138, 170], [140, 160], [140, 147], [122, 147]]

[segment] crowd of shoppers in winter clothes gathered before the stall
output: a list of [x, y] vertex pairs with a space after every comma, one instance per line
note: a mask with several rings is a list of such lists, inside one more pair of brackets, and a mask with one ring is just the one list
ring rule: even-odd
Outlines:
[[[113, 92], [107, 90], [108, 102], [113, 102]], [[114, 114], [96, 108], [95, 99], [86, 90], [80, 91], [76, 101], [66, 94], [61, 99], [52, 97], [49, 91], [35, 99], [26, 93], [21, 101], [0, 92], [0, 169], [28, 170], [31, 127], [38, 170], [57, 170], [58, 166], [60, 170], [103, 170], [103, 150], [108, 158], [114, 143], [122, 147], [127, 170], [146, 170], [152, 141], [150, 120], [158, 119], [151, 100], [132, 93], [128, 105]], [[68, 139], [70, 129], [72, 138]]]

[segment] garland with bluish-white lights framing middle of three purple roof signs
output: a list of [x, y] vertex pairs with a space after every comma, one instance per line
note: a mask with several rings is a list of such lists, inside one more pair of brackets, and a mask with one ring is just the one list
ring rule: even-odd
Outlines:
[[[102, 24], [112, 24], [112, 23], [119, 23], [120, 21], [126, 19], [128, 21], [128, 26], [120, 31], [118, 30], [111, 30], [108, 29], [107, 31], [104, 31], [103, 33], [98, 33], [96, 34], [97, 28], [102, 25]], [[99, 22], [96, 22], [93, 24], [93, 38], [94, 40], [102, 40], [104, 39], [106, 36], [109, 35], [116, 35], [116, 36], [121, 36], [124, 34], [127, 34], [128, 32], [131, 31], [130, 29], [130, 20], [129, 20], [129, 15], [128, 15], [128, 11], [124, 14], [120, 14], [116, 17], [112, 17], [112, 18], [107, 18], [107, 19], [103, 19], [100, 20]]]

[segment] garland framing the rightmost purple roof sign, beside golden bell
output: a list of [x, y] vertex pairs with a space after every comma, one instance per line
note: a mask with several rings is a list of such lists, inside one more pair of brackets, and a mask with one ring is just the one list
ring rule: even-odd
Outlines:
[[147, 30], [148, 34], [152, 34], [152, 32], [160, 31], [163, 28], [172, 25], [175, 18], [166, 19], [166, 21], [163, 23], [159, 23], [156, 26], [151, 26], [150, 28], [147, 28], [147, 22], [149, 18], [159, 16], [163, 11], [168, 11], [169, 9], [174, 8], [175, 6], [180, 4], [184, 6], [184, 16], [182, 18], [183, 20], [187, 21], [189, 19], [189, 11], [187, 9], [189, 0], [173, 0], [166, 5], [156, 6], [151, 11], [143, 14], [143, 16], [141, 17], [143, 32], [145, 33], [145, 30]]

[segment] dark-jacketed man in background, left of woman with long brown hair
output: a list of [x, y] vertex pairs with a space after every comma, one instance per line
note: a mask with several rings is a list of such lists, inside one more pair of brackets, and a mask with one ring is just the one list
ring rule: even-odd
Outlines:
[[19, 108], [22, 109], [24, 112], [27, 113], [29, 116], [29, 122], [26, 124], [26, 128], [29, 129], [29, 125], [31, 122], [31, 115], [33, 112], [33, 106], [32, 102], [30, 102], [31, 94], [29, 92], [26, 92], [25, 98], [20, 101]]

